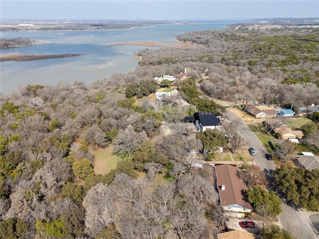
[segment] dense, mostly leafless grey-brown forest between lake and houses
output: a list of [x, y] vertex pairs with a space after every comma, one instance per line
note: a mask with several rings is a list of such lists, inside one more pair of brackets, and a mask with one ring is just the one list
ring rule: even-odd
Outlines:
[[[134, 71], [89, 85], [74, 79], [72, 85], [28, 85], [1, 96], [1, 238], [216, 234], [211, 221], [223, 224], [225, 218], [211, 169], [198, 172], [191, 165], [203, 159], [203, 139], [220, 135], [196, 137], [193, 125], [181, 119], [198, 111], [224, 114], [203, 94], [293, 108], [319, 104], [319, 31], [234, 29], [177, 39], [194, 44], [142, 50]], [[148, 97], [159, 88], [154, 77], [186, 66], [191, 79], [177, 83], [177, 98], [190, 105], [173, 97], [154, 104]], [[228, 126], [235, 139], [237, 130]], [[240, 145], [216, 142], [234, 151]], [[96, 174], [92, 150], [111, 145], [122, 160]]]

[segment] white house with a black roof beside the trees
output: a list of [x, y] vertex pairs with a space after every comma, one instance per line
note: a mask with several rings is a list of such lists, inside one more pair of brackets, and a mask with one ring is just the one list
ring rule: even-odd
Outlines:
[[208, 128], [221, 128], [221, 121], [213, 112], [198, 112], [194, 114], [194, 118], [198, 131], [205, 131]]

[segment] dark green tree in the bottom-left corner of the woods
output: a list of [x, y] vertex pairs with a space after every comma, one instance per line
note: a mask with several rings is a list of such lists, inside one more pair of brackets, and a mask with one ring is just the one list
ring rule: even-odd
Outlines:
[[9, 218], [0, 223], [0, 238], [23, 239], [28, 226], [20, 219]]

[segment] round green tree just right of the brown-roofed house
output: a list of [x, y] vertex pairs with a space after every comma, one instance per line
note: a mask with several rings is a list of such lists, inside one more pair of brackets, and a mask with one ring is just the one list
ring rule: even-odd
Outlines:
[[[247, 195], [248, 202], [252, 204], [254, 208], [263, 205], [262, 208], [259, 207], [259, 210], [257, 210], [257, 213], [261, 216], [275, 217], [282, 212], [280, 198], [273, 191], [268, 192], [262, 187], [252, 187], [247, 190]], [[264, 210], [265, 208], [267, 208], [267, 213]]]

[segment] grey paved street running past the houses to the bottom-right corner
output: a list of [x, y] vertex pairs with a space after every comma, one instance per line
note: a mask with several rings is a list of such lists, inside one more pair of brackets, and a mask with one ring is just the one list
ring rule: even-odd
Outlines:
[[[239, 119], [236, 115], [229, 112], [229, 120]], [[239, 119], [240, 120], [240, 119]], [[248, 128], [242, 121], [238, 126], [238, 131], [242, 137], [246, 140], [247, 146], [252, 147], [257, 151], [254, 157], [254, 164], [258, 165], [266, 174], [266, 178], [269, 182], [269, 188], [276, 191], [277, 188], [274, 185], [272, 172], [276, 169], [273, 161], [265, 158], [266, 149], [257, 136]], [[248, 150], [248, 149], [247, 149]], [[278, 192], [280, 194], [280, 192]], [[314, 229], [310, 220], [309, 212], [304, 212], [299, 208], [294, 207], [285, 199], [282, 199], [283, 212], [279, 215], [284, 229], [291, 232], [297, 239], [319, 239], [317, 230]], [[316, 214], [317, 215], [317, 214]]]

